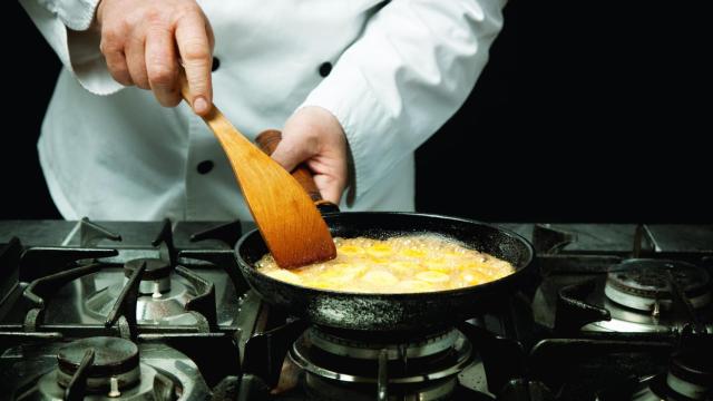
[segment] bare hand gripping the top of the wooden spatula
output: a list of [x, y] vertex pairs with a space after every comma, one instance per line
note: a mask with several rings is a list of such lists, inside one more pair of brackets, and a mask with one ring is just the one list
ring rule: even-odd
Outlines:
[[214, 38], [195, 0], [101, 0], [96, 21], [101, 53], [119, 84], [150, 89], [162, 105], [176, 106], [180, 57], [193, 109], [209, 110]]

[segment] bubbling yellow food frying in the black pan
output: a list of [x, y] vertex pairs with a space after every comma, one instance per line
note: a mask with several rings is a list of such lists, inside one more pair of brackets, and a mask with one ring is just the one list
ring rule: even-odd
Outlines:
[[434, 235], [387, 239], [334, 238], [336, 258], [287, 271], [267, 254], [264, 274], [295, 285], [362, 293], [418, 293], [461, 288], [504, 277], [506, 261]]

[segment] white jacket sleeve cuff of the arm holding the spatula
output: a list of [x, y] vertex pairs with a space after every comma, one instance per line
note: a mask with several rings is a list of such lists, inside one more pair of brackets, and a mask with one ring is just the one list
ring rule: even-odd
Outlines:
[[82, 87], [96, 95], [121, 89], [99, 51], [99, 32], [90, 29], [99, 0], [20, 0], [35, 26]]

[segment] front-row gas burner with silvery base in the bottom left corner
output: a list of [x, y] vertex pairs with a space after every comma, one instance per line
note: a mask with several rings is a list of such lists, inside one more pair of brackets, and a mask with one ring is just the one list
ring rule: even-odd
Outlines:
[[[107, 336], [69, 344], [11, 349], [14, 374], [27, 382], [13, 400], [204, 400], [209, 392], [195, 363], [166, 345]], [[53, 356], [53, 358], [52, 358]], [[19, 378], [18, 378], [19, 379]]]

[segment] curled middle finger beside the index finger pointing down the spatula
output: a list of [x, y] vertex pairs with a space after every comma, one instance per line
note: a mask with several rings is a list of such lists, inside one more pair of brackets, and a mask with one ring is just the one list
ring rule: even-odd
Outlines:
[[168, 27], [154, 26], [146, 35], [146, 72], [158, 102], [166, 107], [180, 102], [178, 65]]

